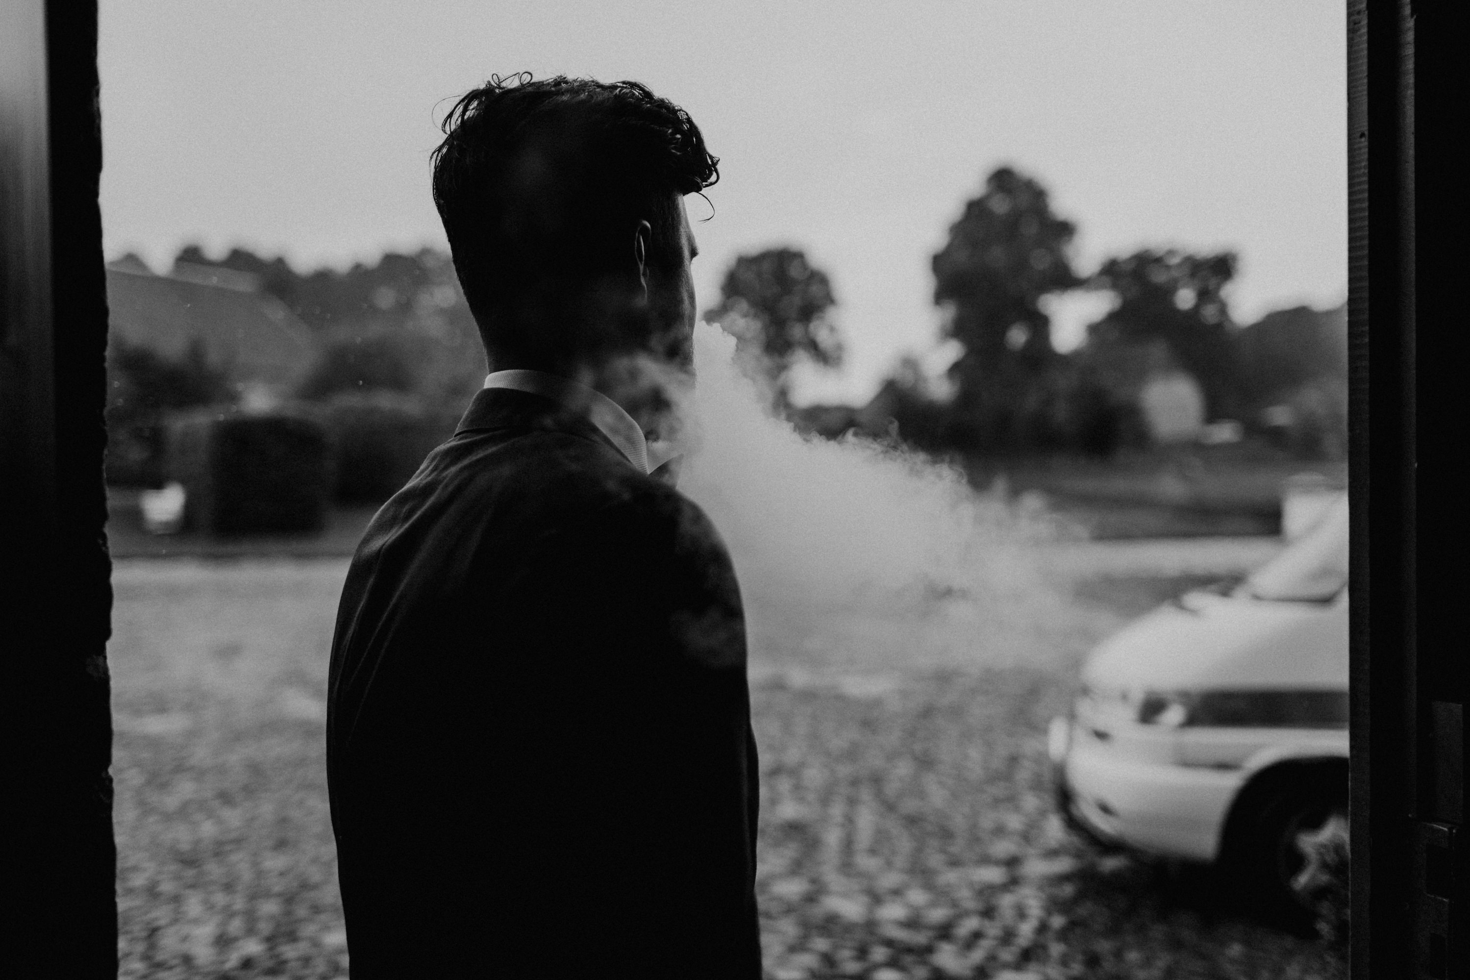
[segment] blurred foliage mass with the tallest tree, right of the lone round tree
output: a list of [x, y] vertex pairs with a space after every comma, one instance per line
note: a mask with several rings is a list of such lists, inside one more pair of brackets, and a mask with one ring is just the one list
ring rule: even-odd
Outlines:
[[[786, 414], [804, 432], [897, 439], [970, 463], [1222, 444], [1345, 457], [1342, 307], [1239, 325], [1226, 295], [1235, 253], [1144, 248], [1086, 272], [1072, 259], [1076, 231], [1038, 179], [995, 169], [932, 262], [941, 339], [957, 347], [948, 369], [926, 372], [910, 354], [866, 406]], [[1101, 292], [1111, 309], [1061, 353], [1047, 300], [1076, 291]]]

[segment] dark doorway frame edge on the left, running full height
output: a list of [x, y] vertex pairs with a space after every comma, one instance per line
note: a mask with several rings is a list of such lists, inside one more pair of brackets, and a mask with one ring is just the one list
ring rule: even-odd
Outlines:
[[0, 973], [118, 971], [97, 7], [0, 3]]

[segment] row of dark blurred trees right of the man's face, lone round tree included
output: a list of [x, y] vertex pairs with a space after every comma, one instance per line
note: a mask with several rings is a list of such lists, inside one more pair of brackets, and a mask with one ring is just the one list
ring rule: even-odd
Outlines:
[[[960, 347], [944, 385], [913, 357], [879, 398], [906, 442], [936, 451], [1108, 455], [1148, 441], [1141, 376], [1192, 378], [1204, 419], [1235, 420], [1304, 455], [1341, 454], [1347, 426], [1347, 334], [1341, 310], [1282, 310], [1241, 326], [1225, 288], [1233, 251], [1145, 248], [1079, 272], [1076, 225], [1054, 213], [1045, 187], [998, 167], [969, 200], [932, 259], [942, 336]], [[1069, 353], [1053, 344], [1047, 300], [1105, 291], [1113, 309]], [[836, 435], [856, 407], [794, 410], [791, 366], [841, 359], [829, 278], [797, 248], [739, 257], [709, 317], [738, 339], [742, 363], [776, 411]], [[936, 391], [938, 388], [938, 391]]]

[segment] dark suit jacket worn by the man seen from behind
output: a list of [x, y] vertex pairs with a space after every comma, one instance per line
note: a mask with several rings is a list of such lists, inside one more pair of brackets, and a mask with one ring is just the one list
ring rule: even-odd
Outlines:
[[353, 977], [760, 977], [756, 745], [703, 511], [479, 392], [373, 519], [332, 641]]

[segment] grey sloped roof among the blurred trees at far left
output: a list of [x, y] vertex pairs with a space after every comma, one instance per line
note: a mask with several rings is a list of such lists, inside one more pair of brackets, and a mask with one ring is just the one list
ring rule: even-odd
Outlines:
[[316, 354], [310, 328], [266, 292], [109, 266], [107, 306], [115, 335], [171, 359], [197, 339], [235, 383], [295, 388]]

